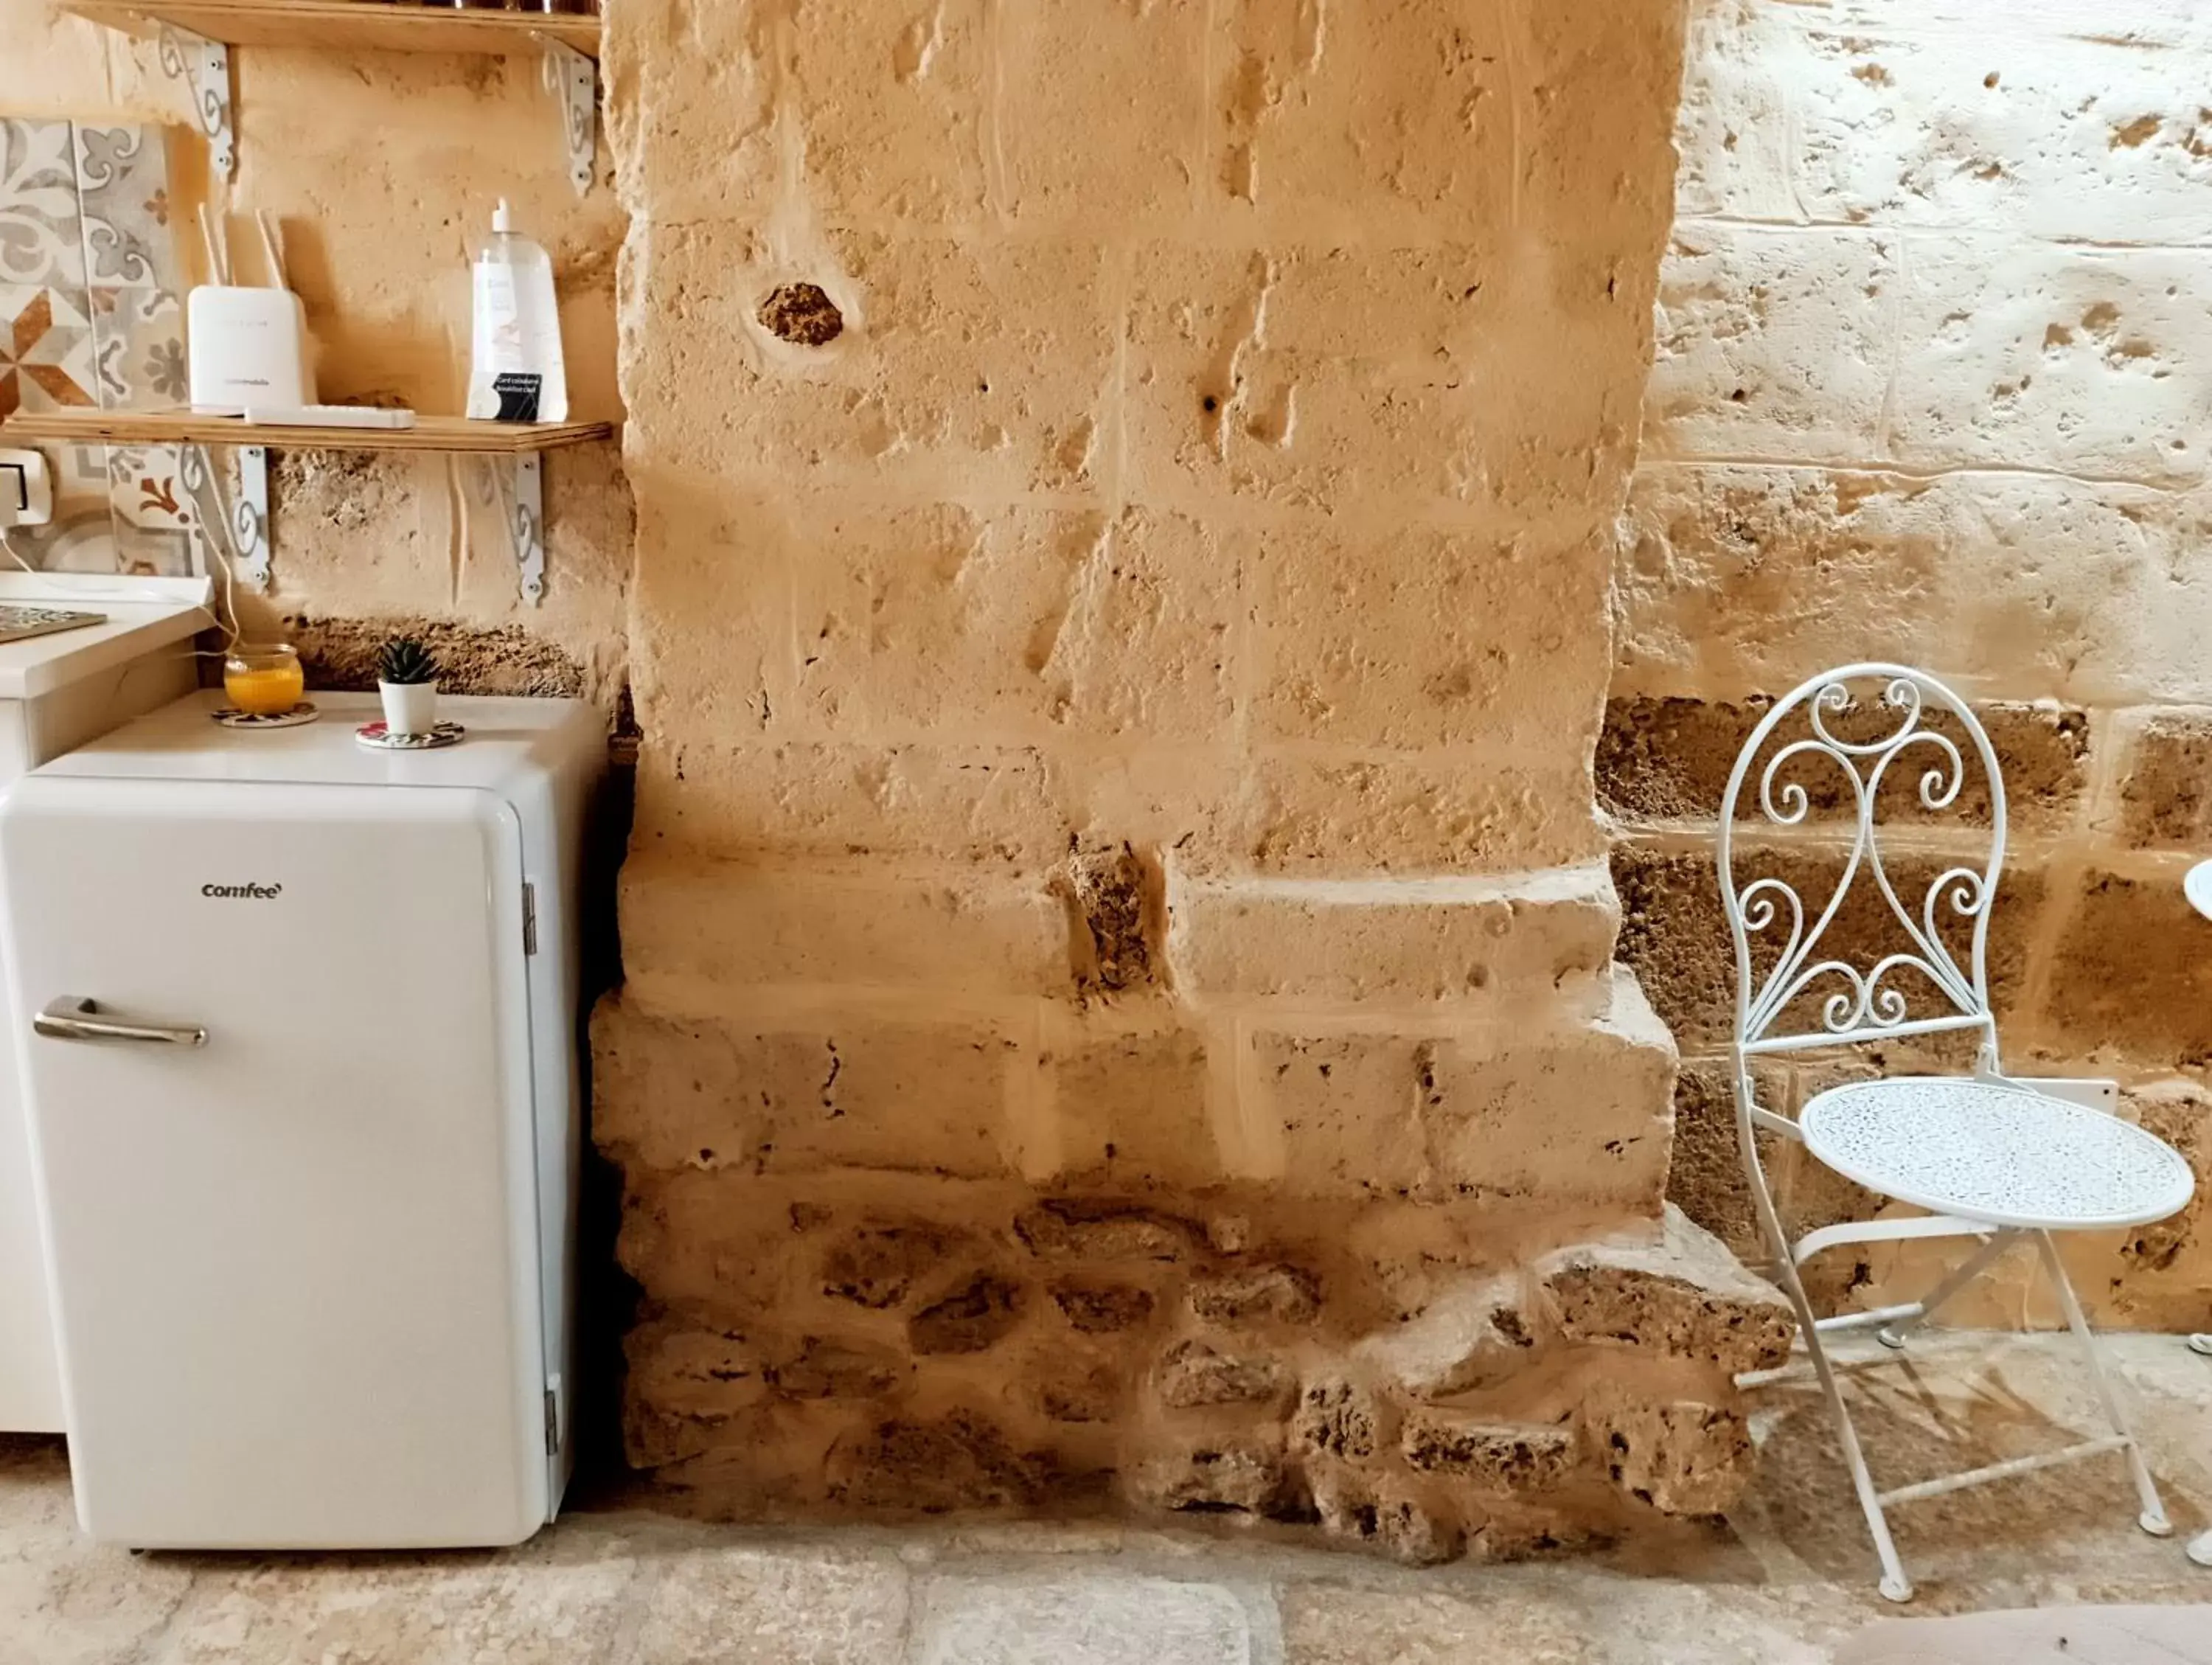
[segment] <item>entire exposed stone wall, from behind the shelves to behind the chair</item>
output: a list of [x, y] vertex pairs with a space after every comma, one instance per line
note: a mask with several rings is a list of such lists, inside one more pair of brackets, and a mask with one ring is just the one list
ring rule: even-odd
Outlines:
[[[599, 1132], [630, 1448], [701, 1506], [1416, 1561], [1725, 1506], [1785, 1324], [1661, 1214], [1756, 1252], [1697, 823], [1843, 657], [1986, 701], [2015, 1059], [2205, 1161], [2212, 42], [1694, 0], [1683, 80], [1681, 9], [624, 0], [584, 199], [526, 60], [239, 53], [325, 396], [458, 407], [500, 192], [580, 413], [619, 363], [544, 610], [489, 471], [292, 451], [248, 612], [330, 681], [392, 628], [471, 690], [635, 677]], [[18, 33], [11, 108], [190, 122], [150, 46]], [[2201, 1320], [2199, 1221], [2084, 1289]]]

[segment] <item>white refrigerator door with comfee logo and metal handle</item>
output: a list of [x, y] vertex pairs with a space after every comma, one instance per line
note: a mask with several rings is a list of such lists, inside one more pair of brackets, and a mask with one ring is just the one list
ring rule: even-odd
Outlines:
[[511, 807], [33, 776], [0, 807], [0, 882], [84, 1530], [538, 1530]]

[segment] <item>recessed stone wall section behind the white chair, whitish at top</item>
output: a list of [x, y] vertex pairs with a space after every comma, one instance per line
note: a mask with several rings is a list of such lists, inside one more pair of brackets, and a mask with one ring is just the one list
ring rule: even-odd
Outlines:
[[[1683, 1050], [1670, 1194], [1745, 1254], [1705, 829], [1763, 701], [1849, 659], [1924, 666], [1995, 739], [2006, 1064], [2117, 1075], [2212, 1181], [2212, 924], [2181, 898], [2212, 854], [2208, 75], [2188, 0], [2039, 0], [2002, 27], [1964, 0], [1692, 7], [1597, 778], [1621, 953]], [[1840, 849], [1798, 871], [1834, 880]], [[1765, 1090], [1792, 1110], [1838, 1068]], [[1874, 1207], [1787, 1156], [1801, 1229]], [[2201, 1329], [2199, 1218], [2077, 1240], [2084, 1298]], [[2051, 1322], [2026, 1269], [1966, 1316]], [[1931, 1267], [1863, 1249], [1812, 1274], [1902, 1300]]]

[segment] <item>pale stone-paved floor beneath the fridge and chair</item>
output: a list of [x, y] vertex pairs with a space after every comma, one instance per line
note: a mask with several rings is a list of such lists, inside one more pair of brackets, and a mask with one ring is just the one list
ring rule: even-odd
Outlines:
[[[2212, 1506], [2212, 1360], [2117, 1338], [2183, 1532]], [[2055, 1444], [2093, 1402], [2051, 1338], [1867, 1347], [1851, 1378], [1898, 1484]], [[1761, 1389], [1761, 1479], [1728, 1528], [1637, 1554], [1402, 1570], [1256, 1537], [971, 1523], [761, 1530], [573, 1508], [520, 1550], [131, 1557], [75, 1539], [58, 1442], [0, 1439], [0, 1665], [1790, 1665], [1893, 1616], [1805, 1382]], [[2208, 1603], [2135, 1530], [2117, 1459], [1898, 1512], [1916, 1614]], [[2212, 1608], [2203, 1614], [2212, 1638]]]

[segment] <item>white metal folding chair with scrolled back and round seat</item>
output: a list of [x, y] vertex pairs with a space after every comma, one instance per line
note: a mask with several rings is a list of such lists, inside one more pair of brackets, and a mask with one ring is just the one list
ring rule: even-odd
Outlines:
[[[1942, 871], [1929, 882], [1927, 893], [1916, 898], [1918, 909], [1913, 909], [1900, 900], [1885, 865], [1876, 811], [1885, 803], [1885, 787], [1889, 803], [1909, 794], [1907, 805], [1916, 805], [1922, 823], [1916, 831], [1924, 831], [1929, 818], [1960, 809], [1969, 761], [1951, 732], [1931, 725], [1938, 712], [1955, 723], [1953, 732], [1964, 734], [1973, 761], [1986, 776], [1989, 825], [1975, 825], [1971, 831], [1975, 851], [1980, 854], [1984, 831], [1989, 849], [1986, 860], [1949, 865], [1958, 849], [1955, 840], [1951, 845], [1916, 840], [1911, 860], [1920, 871], [1929, 865]], [[1790, 739], [1798, 725], [1803, 734]], [[1807, 913], [1796, 889], [1783, 878], [1763, 876], [1739, 884], [1739, 860], [1759, 865], [1754, 851], [1736, 847], [1736, 805], [1754, 763], [1759, 763], [1756, 798], [1745, 814], [1763, 816], [1783, 829], [1772, 840], [1761, 840], [1756, 847], [1761, 854], [1812, 851], [1805, 840], [1792, 838], [1790, 829], [1809, 823], [1814, 794], [1834, 803], [1838, 811], [1847, 807], [1856, 816], [1843, 873], [1818, 913]], [[1916, 769], [1918, 781], [1911, 778]], [[1942, 854], [1944, 849], [1951, 854]], [[1719, 869], [1721, 904], [1736, 949], [1732, 1048], [1736, 1134], [1759, 1221], [1796, 1307], [1820, 1391], [1836, 1415], [1843, 1457], [1882, 1561], [1880, 1590], [1891, 1601], [1909, 1601], [1913, 1588], [1889, 1537], [1885, 1517], [1889, 1504], [2117, 1451], [2126, 1455], [2141, 1499], [2137, 1523], [2157, 1537], [2172, 1530], [2143, 1453], [2128, 1433], [2119, 1400], [2097, 1360], [2097, 1342], [2051, 1234], [2166, 1218], [2188, 1203], [2194, 1179], [2179, 1152], [2141, 1128], [2004, 1077], [1997, 1061], [1997, 1024], [1989, 1010], [1986, 966], [1989, 909], [2002, 862], [2004, 781], [1997, 754], [1958, 694], [1905, 666], [1840, 666], [1792, 690], [1745, 741], [1728, 778]], [[1880, 902], [1876, 913], [1885, 933], [1896, 938], [1891, 951], [1874, 955], [1874, 964], [1849, 964], [1825, 946], [1854, 882], [1876, 887]], [[1796, 1121], [1756, 1099], [1752, 1081], [1756, 1059], [1947, 1033], [1978, 1035], [1973, 1075], [1851, 1081], [1809, 1099]], [[1759, 1134], [1796, 1139], [1816, 1161], [1845, 1179], [1916, 1205], [1924, 1214], [1829, 1225], [1792, 1243], [1759, 1159]], [[1920, 1300], [1832, 1318], [1814, 1313], [1798, 1271], [1812, 1256], [1843, 1243], [1933, 1236], [1980, 1238], [1980, 1247]], [[2066, 1322], [2088, 1360], [2112, 1431], [2062, 1451], [1876, 1490], [1858, 1433], [1851, 1428], [1851, 1413], [1836, 1386], [1825, 1338], [1838, 1331], [1878, 1329], [1880, 1340], [1902, 1347], [1913, 1324], [1933, 1316], [2022, 1238], [2031, 1240], [2042, 1258]]]

